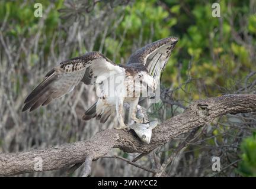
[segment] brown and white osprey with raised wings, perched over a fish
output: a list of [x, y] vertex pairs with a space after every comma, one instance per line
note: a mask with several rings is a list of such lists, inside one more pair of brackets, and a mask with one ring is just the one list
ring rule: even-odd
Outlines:
[[23, 111], [34, 110], [69, 93], [79, 83], [97, 85], [97, 102], [82, 120], [100, 119], [101, 123], [112, 114], [119, 120], [117, 128], [124, 129], [122, 112], [124, 103], [129, 104], [129, 118], [136, 123], [139, 97], [155, 99], [160, 77], [178, 38], [168, 37], [140, 48], [130, 56], [125, 66], [114, 64], [100, 52], [90, 52], [61, 62], [46, 74], [25, 99]]

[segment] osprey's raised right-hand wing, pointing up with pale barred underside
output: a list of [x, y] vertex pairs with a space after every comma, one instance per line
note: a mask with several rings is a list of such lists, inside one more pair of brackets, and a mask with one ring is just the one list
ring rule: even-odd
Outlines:
[[158, 83], [177, 41], [178, 38], [168, 37], [148, 44], [130, 56], [127, 66], [141, 67], [143, 64]]

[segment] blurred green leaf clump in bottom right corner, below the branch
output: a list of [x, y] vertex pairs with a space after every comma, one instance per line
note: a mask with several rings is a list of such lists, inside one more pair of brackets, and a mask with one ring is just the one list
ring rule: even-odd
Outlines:
[[242, 161], [238, 164], [238, 172], [244, 177], [256, 177], [256, 132], [245, 138], [241, 144]]

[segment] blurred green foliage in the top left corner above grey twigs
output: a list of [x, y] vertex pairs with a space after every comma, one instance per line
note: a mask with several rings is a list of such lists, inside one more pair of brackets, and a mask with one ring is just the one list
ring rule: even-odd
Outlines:
[[[56, 1], [53, 5], [54, 7], [50, 9], [49, 13], [46, 15], [46, 8], [49, 7], [51, 2], [40, 1], [43, 5], [43, 16], [46, 16], [46, 24], [40, 25], [40, 19], [34, 17], [34, 3], [33, 1], [1, 1], [0, 2], [0, 20], [6, 19], [7, 28], [5, 28], [4, 36], [19, 40], [19, 38], [33, 38], [38, 32], [46, 34], [47, 36], [53, 36], [54, 32], [58, 29], [58, 23], [60, 22], [59, 9], [63, 6], [63, 1]], [[62, 33], [60, 32], [60, 35]], [[64, 36], [64, 35], [63, 35]], [[39, 44], [47, 44], [44, 47], [44, 53], [46, 55], [49, 53], [50, 44], [52, 43], [52, 37], [49, 38], [39, 38]], [[36, 57], [31, 57], [31, 62], [35, 63], [33, 60]], [[32, 63], [32, 64], [33, 64]]]

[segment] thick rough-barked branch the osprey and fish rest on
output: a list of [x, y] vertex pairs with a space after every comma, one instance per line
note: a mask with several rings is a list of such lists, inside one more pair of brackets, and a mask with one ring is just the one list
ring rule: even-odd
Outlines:
[[[149, 152], [172, 138], [204, 126], [213, 119], [228, 113], [256, 111], [256, 94], [229, 94], [192, 103], [184, 113], [166, 120], [152, 131], [151, 144], [144, 144], [132, 132], [107, 129], [96, 133], [88, 141], [74, 142], [15, 154], [0, 154], [0, 175], [10, 176], [24, 172], [40, 171], [36, 165], [42, 160], [43, 171], [59, 170], [85, 162], [87, 157], [96, 160], [113, 148], [126, 152]], [[39, 157], [39, 158], [38, 158]]]

